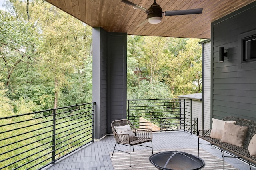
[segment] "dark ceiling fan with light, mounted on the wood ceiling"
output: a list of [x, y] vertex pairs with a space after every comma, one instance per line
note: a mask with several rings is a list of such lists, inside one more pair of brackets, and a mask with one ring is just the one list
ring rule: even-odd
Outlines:
[[128, 4], [130, 6], [133, 6], [134, 9], [139, 9], [146, 12], [148, 16], [147, 19], [144, 20], [138, 26], [142, 26], [147, 22], [149, 22], [150, 24], [158, 24], [162, 21], [162, 17], [164, 15], [174, 16], [174, 15], [202, 14], [202, 11], [203, 11], [203, 8], [198, 8], [198, 9], [190, 9], [190, 10], [176, 10], [176, 11], [163, 12], [162, 8], [156, 3], [156, 0], [154, 0], [154, 3], [148, 8], [148, 10], [128, 0], [121, 0], [121, 2], [124, 2], [125, 4]]

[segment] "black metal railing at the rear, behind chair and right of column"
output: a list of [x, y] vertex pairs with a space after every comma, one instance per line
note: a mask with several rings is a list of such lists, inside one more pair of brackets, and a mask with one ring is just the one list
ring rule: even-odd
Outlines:
[[137, 128], [150, 128], [153, 131], [184, 130], [197, 134], [197, 118], [192, 118], [192, 99], [127, 101], [128, 120]]

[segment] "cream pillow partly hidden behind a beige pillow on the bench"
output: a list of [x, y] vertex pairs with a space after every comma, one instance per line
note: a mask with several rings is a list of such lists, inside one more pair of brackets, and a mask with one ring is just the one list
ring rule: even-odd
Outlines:
[[221, 140], [222, 134], [224, 132], [225, 122], [236, 124], [236, 121], [223, 121], [223, 120], [212, 118], [212, 130], [210, 133], [211, 138]]

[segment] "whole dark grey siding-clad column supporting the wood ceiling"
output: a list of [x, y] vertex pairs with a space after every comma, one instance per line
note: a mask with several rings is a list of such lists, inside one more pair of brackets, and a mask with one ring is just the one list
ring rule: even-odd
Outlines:
[[112, 133], [111, 122], [126, 118], [127, 34], [92, 29], [94, 138]]

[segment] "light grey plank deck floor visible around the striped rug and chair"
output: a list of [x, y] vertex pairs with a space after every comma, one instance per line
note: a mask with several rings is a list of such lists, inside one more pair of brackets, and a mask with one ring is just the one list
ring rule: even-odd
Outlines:
[[[183, 131], [154, 133], [152, 142], [153, 150], [173, 150], [198, 147], [198, 137]], [[200, 140], [200, 142], [202, 141]], [[114, 136], [106, 136], [100, 141], [93, 142], [92, 144], [65, 156], [61, 160], [58, 160], [56, 164], [43, 168], [43, 170], [114, 170], [110, 159], [110, 152], [113, 151], [114, 145]], [[122, 150], [129, 149], [126, 146], [117, 146]], [[200, 145], [200, 148], [204, 148], [208, 152], [222, 159], [220, 150], [210, 145]], [[142, 146], [135, 146], [135, 150], [148, 149], [149, 148]], [[225, 158], [225, 162], [232, 164], [240, 170], [250, 170], [247, 163], [236, 158]], [[252, 170], [256, 170], [256, 168], [252, 167]]]

